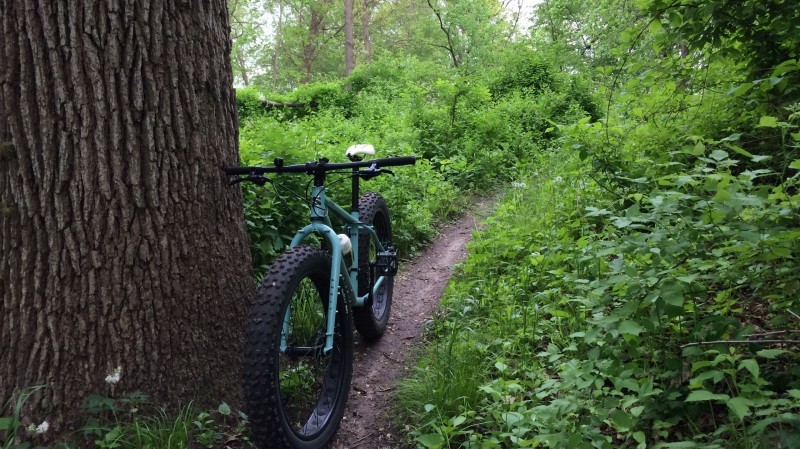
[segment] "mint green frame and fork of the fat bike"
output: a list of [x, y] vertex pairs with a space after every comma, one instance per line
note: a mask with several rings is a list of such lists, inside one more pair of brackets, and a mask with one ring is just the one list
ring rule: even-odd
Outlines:
[[[331, 245], [331, 251], [333, 254], [331, 254], [332, 260], [331, 278], [329, 284], [330, 291], [328, 293], [328, 320], [325, 332], [324, 348], [324, 352], [327, 354], [331, 349], [333, 349], [333, 332], [336, 326], [336, 303], [339, 295], [340, 278], [345, 278], [343, 273], [348, 273], [348, 276], [346, 276], [348, 285], [343, 286], [345, 288], [342, 288], [342, 292], [346, 295], [345, 299], [350, 301], [350, 304], [353, 307], [366, 307], [365, 304], [367, 297], [369, 296], [368, 294], [364, 296], [358, 296], [357, 293], [359, 231], [364, 229], [369, 233], [370, 239], [375, 243], [378, 251], [383, 251], [384, 248], [381, 241], [378, 239], [378, 234], [375, 233], [375, 230], [372, 228], [372, 226], [359, 221], [358, 211], [354, 210], [352, 212], [347, 212], [333, 200], [328, 198], [328, 196], [325, 194], [325, 186], [314, 186], [311, 190], [311, 198], [311, 224], [307, 225], [298, 231], [297, 234], [295, 234], [290, 247], [294, 248], [300, 245], [311, 234], [319, 234], [323, 236]], [[342, 257], [342, 246], [339, 243], [339, 237], [331, 225], [331, 219], [329, 216], [329, 213], [331, 212], [344, 221], [344, 232], [350, 235], [350, 243], [353, 245], [353, 257], [352, 263], [349, 267], [346, 266], [344, 257]], [[366, 248], [364, 249], [364, 251], [367, 250], [368, 249]], [[380, 276], [378, 279], [376, 279], [375, 285], [372, 287], [373, 295], [378, 294], [378, 289], [385, 279], [386, 276]], [[286, 348], [288, 347], [286, 336], [289, 334], [289, 321], [291, 317], [290, 308], [291, 304], [289, 305], [289, 308], [286, 309], [286, 314], [283, 318], [283, 329], [281, 331], [281, 352], [286, 352]]]

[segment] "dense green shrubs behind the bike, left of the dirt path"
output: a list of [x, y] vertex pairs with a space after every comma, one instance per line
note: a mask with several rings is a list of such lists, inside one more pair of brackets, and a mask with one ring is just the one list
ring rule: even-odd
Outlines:
[[[547, 132], [550, 119], [582, 117], [584, 104], [591, 104], [588, 89], [552, 75], [544, 59], [526, 53], [519, 56], [522, 62], [515, 62], [513, 52], [505, 58], [512, 66], [535, 67], [547, 84], [531, 90], [528, 84], [512, 83], [502, 95], [492, 94], [487, 87], [497, 84], [492, 73], [502, 71], [464, 76], [413, 57], [386, 57], [356, 69], [344, 82], [303, 86], [281, 101], [307, 107], [250, 114], [242, 120], [242, 164], [271, 165], [275, 157], [287, 164], [323, 156], [341, 161], [345, 148], [365, 142], [376, 147], [378, 157], [421, 156], [416, 166], [398, 169], [397, 177], [363, 185], [386, 197], [396, 244], [401, 253], [413, 252], [431, 238], [437, 222], [460, 206], [459, 190], [487, 190], [509, 180], [511, 168], [529, 165], [530, 155], [554, 136]], [[308, 180], [282, 176], [276, 181], [283, 187], [243, 186], [257, 272], [266, 269], [305, 222], [305, 213], [298, 212], [303, 211]], [[340, 204], [347, 204], [347, 187], [330, 186]]]

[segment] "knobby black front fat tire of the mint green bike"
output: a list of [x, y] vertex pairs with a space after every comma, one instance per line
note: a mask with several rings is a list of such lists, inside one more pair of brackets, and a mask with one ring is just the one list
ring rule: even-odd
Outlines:
[[344, 295], [338, 297], [329, 354], [315, 350], [313, 355], [289, 357], [280, 351], [290, 302], [292, 314], [305, 308], [308, 313], [303, 316], [311, 318], [293, 317], [287, 343], [324, 344], [330, 265], [330, 255], [318, 248], [287, 251], [264, 276], [251, 306], [244, 341], [244, 396], [253, 441], [261, 449], [325, 448], [344, 414], [353, 362], [353, 322]]

